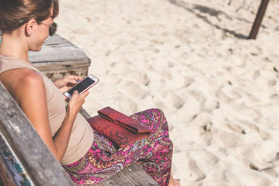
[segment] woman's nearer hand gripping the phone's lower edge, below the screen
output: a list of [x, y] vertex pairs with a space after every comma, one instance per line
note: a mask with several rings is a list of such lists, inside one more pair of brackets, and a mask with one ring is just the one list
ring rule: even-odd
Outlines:
[[75, 116], [77, 112], [80, 111], [80, 108], [82, 107], [82, 104], [84, 104], [84, 99], [87, 95], [89, 95], [88, 90], [84, 93], [81, 93], [80, 95], [77, 91], [73, 92], [73, 95], [68, 102], [68, 113], [70, 115], [73, 114], [73, 116]]

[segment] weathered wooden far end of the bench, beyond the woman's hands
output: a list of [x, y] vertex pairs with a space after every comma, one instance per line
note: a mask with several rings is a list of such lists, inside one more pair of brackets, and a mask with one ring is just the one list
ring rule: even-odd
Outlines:
[[40, 52], [29, 52], [29, 60], [53, 81], [65, 75], [86, 77], [91, 59], [59, 35], [48, 37]]

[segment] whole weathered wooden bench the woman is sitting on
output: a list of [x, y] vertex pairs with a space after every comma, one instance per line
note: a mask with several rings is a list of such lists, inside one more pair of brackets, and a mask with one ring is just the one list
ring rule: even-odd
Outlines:
[[[72, 43], [54, 36], [30, 59], [52, 80], [63, 75], [85, 77], [90, 59]], [[84, 109], [80, 113], [90, 117]], [[0, 82], [0, 185], [74, 185], [23, 111]], [[141, 166], [125, 169], [93, 185], [158, 185]]]

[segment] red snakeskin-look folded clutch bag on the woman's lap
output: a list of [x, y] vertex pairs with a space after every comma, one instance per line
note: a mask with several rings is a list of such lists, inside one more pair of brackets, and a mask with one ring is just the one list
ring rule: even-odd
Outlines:
[[94, 130], [110, 139], [119, 148], [151, 134], [151, 130], [111, 107], [99, 110], [98, 114], [87, 121]]

